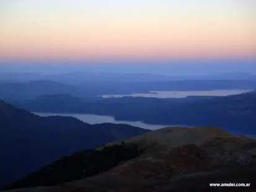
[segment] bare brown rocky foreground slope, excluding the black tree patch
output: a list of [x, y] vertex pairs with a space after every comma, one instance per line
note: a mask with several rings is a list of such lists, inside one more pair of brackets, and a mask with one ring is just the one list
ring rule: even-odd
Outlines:
[[[249, 137], [234, 136], [211, 127], [164, 128], [124, 142], [144, 149], [143, 153], [93, 177], [12, 192], [256, 190], [256, 141]], [[209, 183], [230, 182], [251, 183], [251, 186], [209, 187]]]

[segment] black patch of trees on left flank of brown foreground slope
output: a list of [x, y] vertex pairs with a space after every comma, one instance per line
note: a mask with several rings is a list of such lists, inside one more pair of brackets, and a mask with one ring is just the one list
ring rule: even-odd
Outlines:
[[62, 157], [51, 165], [16, 181], [6, 189], [32, 186], [53, 186], [106, 172], [118, 164], [139, 157], [136, 145], [125, 144], [104, 147], [100, 150], [76, 152]]

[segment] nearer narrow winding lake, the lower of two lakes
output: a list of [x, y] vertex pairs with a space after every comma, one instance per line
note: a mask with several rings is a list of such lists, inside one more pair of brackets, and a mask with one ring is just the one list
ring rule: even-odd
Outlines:
[[[168, 126], [185, 126], [185, 125], [163, 125], [163, 124], [146, 124], [141, 121], [116, 121], [113, 116], [104, 115], [90, 115], [90, 114], [77, 114], [77, 113], [35, 113], [39, 116], [73, 116], [78, 120], [81, 120], [89, 124], [97, 123], [115, 123], [115, 124], [130, 124], [131, 126], [136, 126], [144, 129], [161, 129]], [[188, 126], [187, 126], [188, 127]]]

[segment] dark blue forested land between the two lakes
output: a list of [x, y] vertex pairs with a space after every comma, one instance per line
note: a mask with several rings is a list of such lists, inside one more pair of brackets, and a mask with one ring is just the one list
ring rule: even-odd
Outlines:
[[[256, 92], [226, 97], [95, 98], [45, 95], [35, 100], [14, 101], [29, 111], [89, 113], [114, 116], [115, 120], [149, 124], [217, 126], [237, 134], [255, 134]], [[243, 128], [241, 130], [241, 127]]]

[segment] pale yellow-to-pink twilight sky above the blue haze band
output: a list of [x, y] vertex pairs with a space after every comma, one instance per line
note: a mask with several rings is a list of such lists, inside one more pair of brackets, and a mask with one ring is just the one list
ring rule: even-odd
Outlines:
[[255, 0], [0, 1], [1, 61], [255, 55]]

